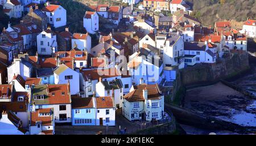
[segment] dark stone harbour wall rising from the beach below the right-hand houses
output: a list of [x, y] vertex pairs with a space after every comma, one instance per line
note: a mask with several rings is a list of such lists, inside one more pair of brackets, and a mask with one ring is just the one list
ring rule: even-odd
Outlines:
[[249, 70], [248, 54], [244, 51], [233, 51], [217, 63], [200, 63], [179, 71], [181, 83], [186, 87], [213, 84], [220, 79], [236, 76]]

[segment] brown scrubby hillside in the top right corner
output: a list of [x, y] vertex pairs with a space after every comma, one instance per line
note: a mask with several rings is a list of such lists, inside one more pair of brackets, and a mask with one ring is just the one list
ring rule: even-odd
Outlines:
[[204, 25], [220, 20], [243, 22], [256, 19], [255, 0], [186, 0], [193, 7], [193, 16]]

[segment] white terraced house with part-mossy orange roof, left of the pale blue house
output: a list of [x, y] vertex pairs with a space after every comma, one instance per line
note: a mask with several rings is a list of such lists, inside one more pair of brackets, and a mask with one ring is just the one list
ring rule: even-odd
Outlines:
[[71, 123], [71, 94], [69, 84], [35, 85], [32, 88], [32, 109], [53, 108], [56, 123]]

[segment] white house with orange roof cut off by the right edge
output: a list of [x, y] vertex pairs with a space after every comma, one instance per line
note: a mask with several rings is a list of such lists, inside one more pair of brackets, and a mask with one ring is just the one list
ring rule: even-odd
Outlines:
[[256, 20], [247, 20], [243, 24], [242, 33], [250, 37], [256, 37]]

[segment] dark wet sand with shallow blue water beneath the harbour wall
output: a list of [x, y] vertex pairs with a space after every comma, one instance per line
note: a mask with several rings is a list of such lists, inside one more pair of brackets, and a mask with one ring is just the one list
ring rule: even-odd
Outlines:
[[242, 126], [256, 126], [255, 100], [222, 83], [188, 90], [184, 108]]

